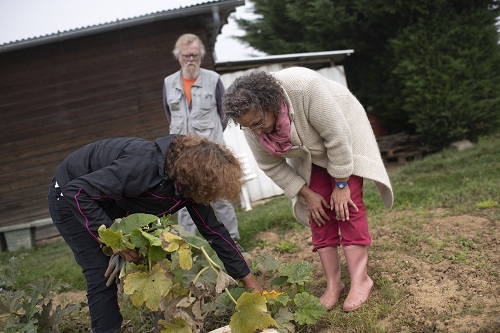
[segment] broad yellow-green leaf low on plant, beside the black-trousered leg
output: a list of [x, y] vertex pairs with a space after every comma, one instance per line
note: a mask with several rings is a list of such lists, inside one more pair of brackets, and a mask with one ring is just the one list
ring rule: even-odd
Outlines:
[[145, 304], [151, 311], [158, 311], [160, 299], [165, 297], [172, 287], [172, 280], [165, 276], [166, 271], [156, 264], [150, 273], [133, 272], [123, 282], [123, 291], [130, 295], [135, 307]]

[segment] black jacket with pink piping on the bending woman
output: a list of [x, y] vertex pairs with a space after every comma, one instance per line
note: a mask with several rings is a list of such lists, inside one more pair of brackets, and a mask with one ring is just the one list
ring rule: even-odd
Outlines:
[[229, 275], [245, 277], [250, 269], [213, 208], [182, 198], [165, 176], [165, 155], [174, 137], [90, 143], [63, 160], [55, 180], [75, 217], [96, 241], [98, 228], [109, 227], [115, 218], [133, 213], [162, 216], [186, 207]]

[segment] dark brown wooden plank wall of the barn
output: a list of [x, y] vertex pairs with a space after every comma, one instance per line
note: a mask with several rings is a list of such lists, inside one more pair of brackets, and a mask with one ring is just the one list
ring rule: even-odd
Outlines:
[[205, 41], [203, 17], [154, 22], [0, 53], [0, 226], [49, 217], [57, 164], [103, 138], [168, 134], [163, 78], [185, 32]]

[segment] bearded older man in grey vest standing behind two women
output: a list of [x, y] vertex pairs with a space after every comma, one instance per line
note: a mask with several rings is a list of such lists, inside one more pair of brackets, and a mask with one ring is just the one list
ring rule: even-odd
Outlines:
[[[219, 74], [200, 68], [205, 56], [203, 42], [196, 35], [184, 34], [177, 39], [172, 53], [181, 69], [167, 76], [163, 85], [163, 106], [170, 124], [170, 134], [194, 132], [224, 144], [223, 132], [227, 126], [221, 112], [224, 85]], [[219, 221], [229, 230], [243, 252], [238, 244], [240, 233], [234, 207], [225, 200], [215, 201], [213, 205]], [[196, 231], [185, 209], [179, 211], [178, 221], [186, 230]]]

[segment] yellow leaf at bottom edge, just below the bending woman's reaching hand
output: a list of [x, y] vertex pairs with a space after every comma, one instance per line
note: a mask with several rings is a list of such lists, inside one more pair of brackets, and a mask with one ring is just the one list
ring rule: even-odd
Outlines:
[[266, 298], [261, 294], [243, 293], [236, 304], [236, 312], [231, 316], [229, 327], [233, 332], [254, 333], [278, 324], [267, 313]]

